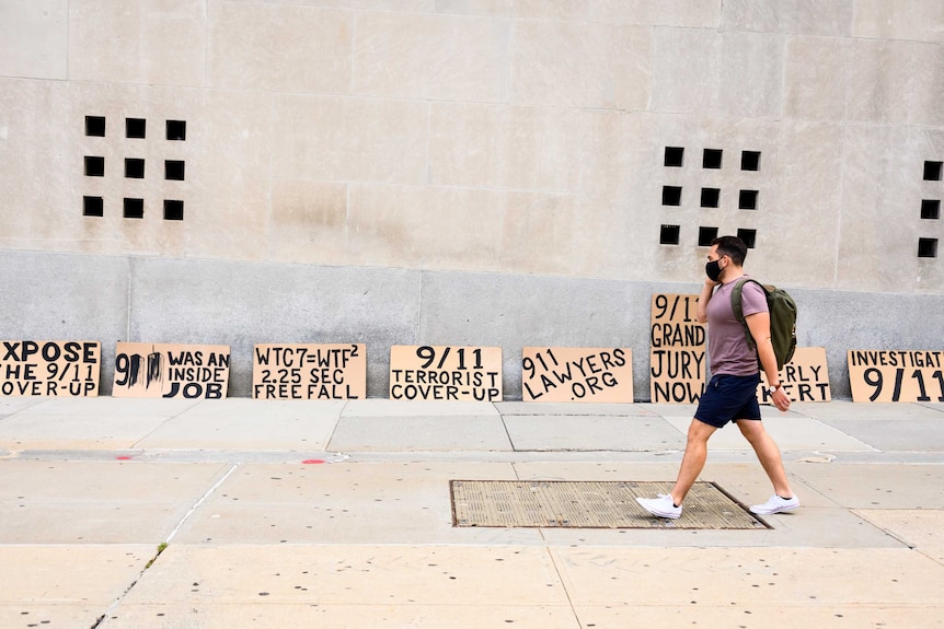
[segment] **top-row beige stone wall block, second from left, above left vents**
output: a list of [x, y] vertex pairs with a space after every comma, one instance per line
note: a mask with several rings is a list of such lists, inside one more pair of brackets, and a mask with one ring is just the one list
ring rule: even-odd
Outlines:
[[204, 0], [69, 2], [69, 79], [204, 85]]

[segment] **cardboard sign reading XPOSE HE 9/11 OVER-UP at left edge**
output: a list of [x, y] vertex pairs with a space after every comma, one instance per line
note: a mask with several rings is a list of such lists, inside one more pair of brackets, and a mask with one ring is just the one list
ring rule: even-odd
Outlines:
[[0, 341], [0, 395], [94, 397], [101, 368], [99, 341]]

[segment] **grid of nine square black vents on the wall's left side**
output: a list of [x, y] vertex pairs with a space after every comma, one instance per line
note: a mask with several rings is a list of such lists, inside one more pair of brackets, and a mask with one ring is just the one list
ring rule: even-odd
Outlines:
[[[104, 116], [85, 116], [85, 136], [91, 138], [104, 138], [107, 120]], [[148, 136], [148, 121], [145, 118], [125, 118], [125, 139], [143, 140]], [[170, 142], [183, 142], [187, 139], [186, 120], [164, 120], [164, 139]], [[140, 147], [127, 144], [129, 152], [139, 151]], [[103, 147], [104, 148], [104, 147]], [[140, 153], [138, 153], [140, 154]], [[143, 179], [152, 167], [148, 167], [143, 158], [124, 158], [124, 163], [117, 166], [105, 163], [104, 155], [85, 155], [83, 172], [87, 177], [104, 177], [110, 168], [117, 167], [123, 172], [126, 179]], [[186, 177], [186, 163], [183, 160], [163, 160], [163, 173], [158, 170], [158, 176], [163, 175], [168, 182], [183, 182]], [[153, 173], [151, 176], [154, 176]], [[85, 217], [105, 216], [104, 197], [82, 197], [82, 214]], [[146, 210], [143, 198], [122, 198], [122, 217], [126, 219], [143, 219]], [[165, 221], [184, 220], [183, 199], [163, 199], [163, 217]]]

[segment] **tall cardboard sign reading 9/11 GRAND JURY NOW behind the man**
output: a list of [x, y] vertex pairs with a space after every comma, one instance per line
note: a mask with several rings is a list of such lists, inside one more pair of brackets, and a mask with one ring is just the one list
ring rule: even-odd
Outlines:
[[654, 294], [649, 396], [654, 404], [698, 404], [705, 387], [705, 326], [699, 295]]

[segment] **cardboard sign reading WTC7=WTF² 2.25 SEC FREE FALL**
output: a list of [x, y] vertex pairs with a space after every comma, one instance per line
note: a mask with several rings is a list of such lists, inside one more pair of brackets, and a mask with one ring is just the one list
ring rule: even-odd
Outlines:
[[364, 399], [367, 347], [256, 345], [252, 396], [256, 399]]

